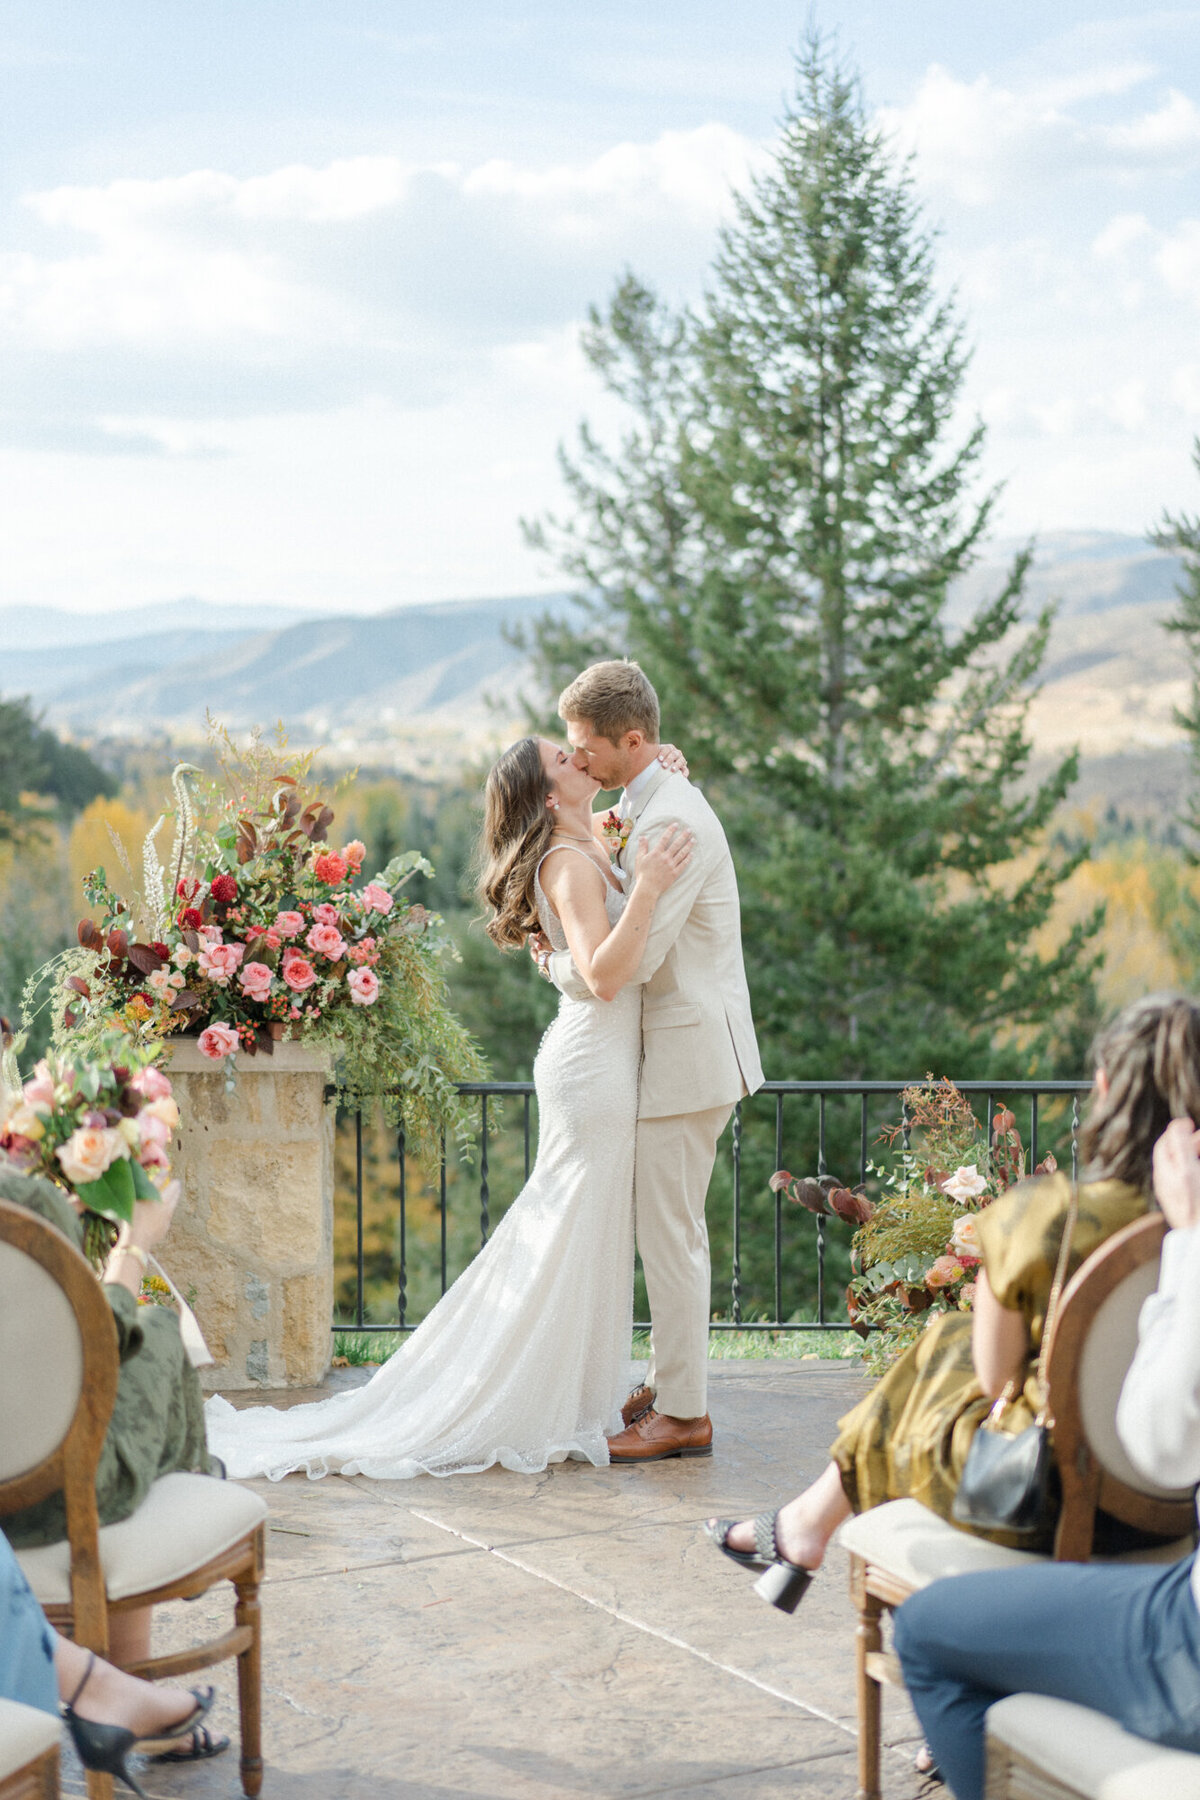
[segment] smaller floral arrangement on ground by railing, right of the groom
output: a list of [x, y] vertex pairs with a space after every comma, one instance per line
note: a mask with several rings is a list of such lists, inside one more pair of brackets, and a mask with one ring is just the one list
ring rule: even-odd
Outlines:
[[[833, 1175], [770, 1179], [775, 1193], [856, 1226], [846, 1289], [855, 1330], [869, 1341], [876, 1370], [892, 1363], [928, 1325], [927, 1314], [970, 1312], [979, 1269], [975, 1215], [1025, 1177], [1016, 1118], [1000, 1107], [990, 1132], [954, 1082], [930, 1075], [901, 1094], [903, 1121], [882, 1134], [891, 1163], [867, 1163], [882, 1197], [847, 1188]], [[1056, 1168], [1052, 1156], [1034, 1174]]]

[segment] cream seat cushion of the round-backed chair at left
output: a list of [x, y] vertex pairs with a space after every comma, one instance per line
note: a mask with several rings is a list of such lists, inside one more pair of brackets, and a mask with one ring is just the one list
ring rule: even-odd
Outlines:
[[[124, 1600], [191, 1575], [264, 1517], [266, 1503], [237, 1481], [164, 1474], [131, 1517], [101, 1526], [108, 1598]], [[41, 1606], [70, 1604], [67, 1543], [18, 1550], [16, 1559]]]

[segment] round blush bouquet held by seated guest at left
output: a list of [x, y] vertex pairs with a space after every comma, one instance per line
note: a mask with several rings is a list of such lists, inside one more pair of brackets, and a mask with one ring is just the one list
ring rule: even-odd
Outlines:
[[50, 1053], [23, 1087], [0, 1087], [0, 1156], [77, 1199], [97, 1269], [135, 1202], [158, 1201], [171, 1177], [180, 1112], [155, 1055], [112, 1031], [95, 1053]]

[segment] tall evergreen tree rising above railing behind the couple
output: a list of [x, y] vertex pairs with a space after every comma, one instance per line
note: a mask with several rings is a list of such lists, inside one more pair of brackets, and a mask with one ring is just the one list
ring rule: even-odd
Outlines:
[[995, 502], [970, 495], [982, 425], [948, 445], [963, 328], [819, 40], [703, 306], [626, 275], [585, 349], [631, 425], [613, 452], [585, 427], [572, 518], [529, 527], [587, 608], [536, 626], [538, 675], [628, 653], [653, 679], [739, 864], [768, 1073], [977, 1073], [1013, 1033], [1074, 1073], [1097, 922], [1038, 934], [1083, 853], [1043, 846], [1076, 761], [1027, 778], [1051, 617], [1020, 623], [1024, 553], [946, 619]]

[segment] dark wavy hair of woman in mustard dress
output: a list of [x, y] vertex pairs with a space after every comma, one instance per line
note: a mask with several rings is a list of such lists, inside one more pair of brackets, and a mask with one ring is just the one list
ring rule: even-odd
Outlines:
[[1200, 1125], [1200, 1004], [1186, 994], [1133, 1001], [1092, 1044], [1108, 1093], [1092, 1093], [1079, 1150], [1092, 1179], [1151, 1192], [1153, 1147], [1171, 1120]]

